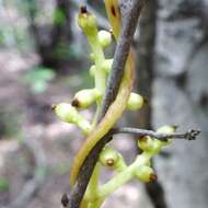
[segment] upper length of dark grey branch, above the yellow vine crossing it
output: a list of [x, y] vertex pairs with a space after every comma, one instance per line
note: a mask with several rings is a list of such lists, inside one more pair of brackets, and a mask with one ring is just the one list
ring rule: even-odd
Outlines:
[[103, 101], [101, 117], [105, 115], [107, 108], [115, 100], [122, 78], [125, 70], [125, 63], [132, 43], [134, 34], [137, 27], [138, 18], [141, 13], [146, 0], [128, 0], [123, 1], [120, 5], [123, 16], [123, 28], [118, 38], [118, 44], [114, 55], [112, 73], [109, 74], [106, 93]]

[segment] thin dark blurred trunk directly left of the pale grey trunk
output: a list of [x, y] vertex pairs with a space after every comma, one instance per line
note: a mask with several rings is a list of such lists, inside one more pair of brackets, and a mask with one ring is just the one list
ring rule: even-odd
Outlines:
[[[138, 44], [138, 88], [139, 92], [148, 100], [139, 111], [138, 125], [141, 128], [151, 129], [152, 118], [152, 84], [154, 79], [154, 41], [157, 26], [157, 1], [148, 1], [140, 19], [140, 34]], [[163, 187], [160, 182], [146, 184], [146, 190], [155, 208], [165, 208]]]

